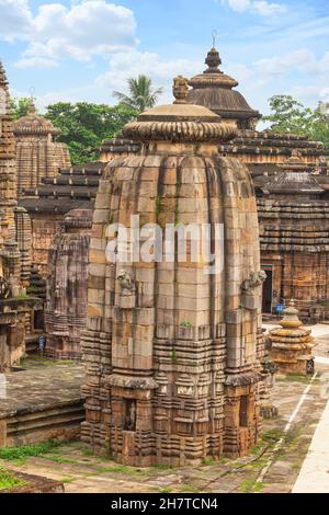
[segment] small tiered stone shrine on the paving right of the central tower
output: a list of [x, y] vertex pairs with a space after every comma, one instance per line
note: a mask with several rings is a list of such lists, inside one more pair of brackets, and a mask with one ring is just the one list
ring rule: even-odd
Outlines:
[[271, 357], [283, 374], [314, 373], [311, 350], [315, 345], [311, 330], [303, 325], [293, 300], [283, 312], [280, 328], [270, 330]]

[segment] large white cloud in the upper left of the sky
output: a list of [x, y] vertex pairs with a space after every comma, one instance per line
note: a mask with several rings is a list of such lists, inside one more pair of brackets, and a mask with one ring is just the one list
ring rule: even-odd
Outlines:
[[0, 37], [30, 42], [18, 62], [21, 68], [54, 66], [66, 57], [88, 61], [137, 43], [133, 11], [106, 0], [43, 4], [34, 18], [27, 0], [0, 0]]

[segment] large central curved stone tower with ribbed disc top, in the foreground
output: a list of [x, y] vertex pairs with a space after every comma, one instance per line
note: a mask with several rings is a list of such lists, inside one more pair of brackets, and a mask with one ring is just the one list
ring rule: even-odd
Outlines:
[[[217, 153], [235, 125], [188, 104], [185, 79], [175, 79], [173, 92], [173, 105], [124, 127], [141, 151], [107, 164], [90, 244], [82, 439], [134, 466], [242, 455], [261, 430], [262, 274], [251, 179]], [[140, 228], [157, 224], [157, 249], [168, 225], [208, 224], [213, 244], [222, 228], [223, 266], [207, 273], [189, 238], [182, 260], [181, 242], [172, 261], [164, 251], [148, 262], [139, 253], [107, 260], [115, 242], [107, 226], [129, 228], [132, 215]], [[141, 243], [147, 238], [141, 232]]]

